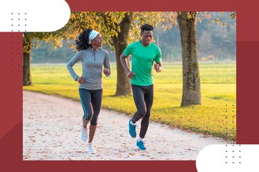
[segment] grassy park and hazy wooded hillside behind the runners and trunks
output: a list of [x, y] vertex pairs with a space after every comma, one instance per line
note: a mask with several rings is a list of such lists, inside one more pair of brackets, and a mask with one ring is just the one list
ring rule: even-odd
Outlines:
[[[221, 14], [211, 13], [211, 19], [204, 19], [196, 25], [202, 105], [180, 106], [182, 50], [178, 25], [166, 31], [155, 28], [154, 40], [162, 50], [164, 70], [159, 74], [153, 71], [155, 97], [151, 120], [170, 127], [236, 140], [236, 21], [229, 19], [227, 25], [222, 25], [221, 18], [221, 23], [218, 22], [218, 15]], [[63, 47], [55, 50], [51, 43], [37, 39], [33, 41], [32, 85], [23, 89], [79, 100], [78, 85], [66, 69], [66, 62], [75, 50], [65, 41], [62, 41]], [[104, 77], [102, 107], [131, 116], [135, 112], [133, 97], [131, 94], [115, 96], [115, 52], [112, 51], [113, 47], [104, 45], [104, 48], [110, 52], [112, 75]], [[80, 64], [75, 65], [75, 70], [80, 74]]]

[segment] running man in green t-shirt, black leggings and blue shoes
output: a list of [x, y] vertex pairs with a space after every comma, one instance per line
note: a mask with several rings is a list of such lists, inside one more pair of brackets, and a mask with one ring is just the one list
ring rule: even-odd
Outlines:
[[[140, 136], [137, 139], [137, 147], [145, 151], [143, 139], [148, 129], [151, 107], [153, 105], [153, 74], [152, 66], [155, 61], [155, 71], [161, 72], [163, 69], [161, 50], [151, 43], [153, 39], [153, 26], [144, 24], [141, 27], [142, 40], [131, 43], [126, 47], [120, 56], [122, 66], [124, 67], [128, 78], [131, 78], [133, 98], [137, 111], [133, 118], [128, 121], [129, 133], [135, 138], [136, 122], [142, 118]], [[132, 70], [128, 69], [125, 58], [132, 55]]]

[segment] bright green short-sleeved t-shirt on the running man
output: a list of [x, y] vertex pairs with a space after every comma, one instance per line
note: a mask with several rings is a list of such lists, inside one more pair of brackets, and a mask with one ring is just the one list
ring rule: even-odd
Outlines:
[[135, 76], [131, 79], [131, 84], [153, 85], [152, 67], [154, 61], [161, 62], [160, 48], [155, 43], [150, 43], [145, 47], [140, 41], [137, 41], [128, 45], [123, 53], [125, 56], [132, 55], [131, 71], [135, 73]]

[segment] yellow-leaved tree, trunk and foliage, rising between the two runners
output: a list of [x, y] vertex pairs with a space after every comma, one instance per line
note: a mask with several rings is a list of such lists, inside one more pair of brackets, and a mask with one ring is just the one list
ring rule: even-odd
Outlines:
[[[117, 63], [117, 87], [115, 96], [126, 96], [131, 94], [131, 83], [126, 72], [120, 63], [120, 54], [127, 47], [129, 42], [137, 41], [140, 38], [140, 26], [149, 23], [153, 26], [161, 25], [163, 30], [176, 25], [173, 12], [124, 12], [124, 17], [117, 20], [117, 12], [102, 12], [99, 16], [104, 19], [106, 30], [115, 30], [110, 44], [115, 47]], [[119, 15], [120, 16], [120, 15]], [[116, 19], [116, 20], [112, 20]], [[127, 59], [129, 66], [129, 60]]]

